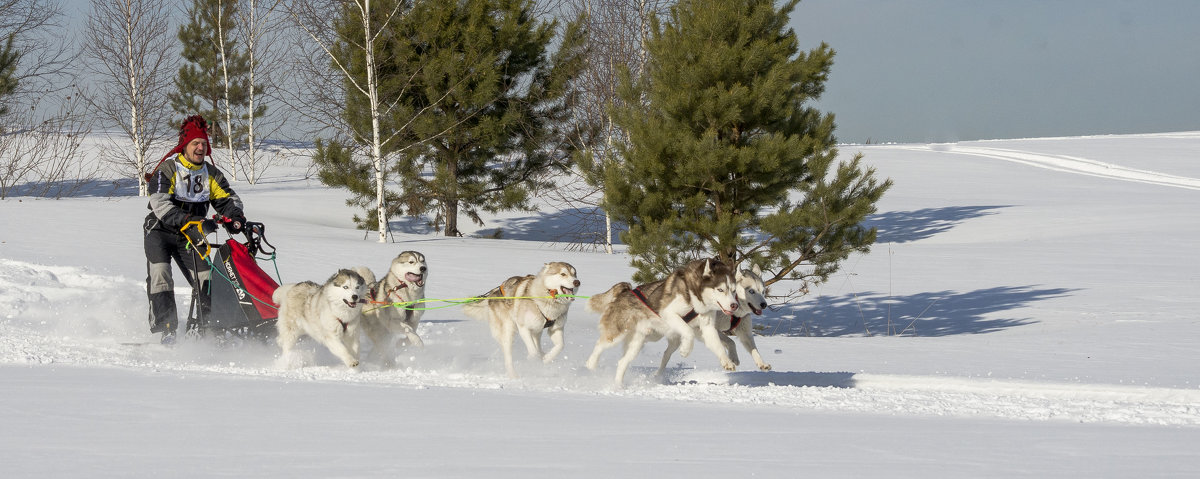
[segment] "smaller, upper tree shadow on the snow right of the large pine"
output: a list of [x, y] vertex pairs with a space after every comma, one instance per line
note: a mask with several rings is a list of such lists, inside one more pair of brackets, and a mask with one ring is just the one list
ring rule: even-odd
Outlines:
[[875, 243], [908, 243], [943, 233], [964, 221], [995, 215], [998, 209], [1012, 205], [994, 206], [946, 206], [924, 208], [912, 211], [888, 211], [870, 215], [863, 222], [877, 230]]

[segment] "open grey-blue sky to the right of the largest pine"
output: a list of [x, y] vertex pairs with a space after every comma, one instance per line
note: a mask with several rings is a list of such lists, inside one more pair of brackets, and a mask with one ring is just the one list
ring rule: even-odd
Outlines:
[[842, 142], [1200, 128], [1200, 2], [803, 0], [838, 53], [816, 103]]

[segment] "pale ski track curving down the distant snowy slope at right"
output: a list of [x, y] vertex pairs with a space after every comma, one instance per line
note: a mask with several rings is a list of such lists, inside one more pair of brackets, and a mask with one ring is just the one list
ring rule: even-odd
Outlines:
[[910, 151], [937, 151], [958, 155], [980, 156], [992, 160], [1004, 160], [1015, 163], [1027, 164], [1037, 168], [1045, 168], [1055, 172], [1084, 174], [1088, 176], [1108, 178], [1124, 181], [1136, 181], [1151, 185], [1174, 186], [1187, 190], [1200, 190], [1200, 179], [1178, 176], [1166, 173], [1146, 169], [1128, 168], [1120, 164], [1105, 163], [1088, 158], [1068, 155], [1048, 155], [1031, 151], [1012, 150], [988, 146], [964, 146], [958, 144], [932, 144], [932, 145], [887, 145], [882, 148], [910, 150]]

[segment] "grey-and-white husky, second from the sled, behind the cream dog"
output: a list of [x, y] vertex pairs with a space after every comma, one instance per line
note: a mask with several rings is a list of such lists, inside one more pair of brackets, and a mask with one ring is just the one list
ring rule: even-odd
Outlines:
[[425, 281], [428, 268], [425, 255], [416, 251], [402, 251], [391, 264], [383, 280], [376, 281], [374, 274], [366, 267], [354, 268], [368, 285], [368, 299], [372, 305], [362, 315], [362, 330], [371, 339], [372, 363], [394, 366], [396, 363], [396, 341], [400, 337], [409, 345], [425, 346], [416, 335], [416, 324], [421, 321], [425, 306]]

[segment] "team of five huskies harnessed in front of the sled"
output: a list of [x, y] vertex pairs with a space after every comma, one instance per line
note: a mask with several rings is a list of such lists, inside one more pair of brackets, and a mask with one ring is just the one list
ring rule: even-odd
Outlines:
[[[281, 361], [294, 364], [293, 348], [301, 336], [310, 336], [348, 367], [358, 367], [360, 334], [371, 340], [368, 360], [384, 367], [395, 366], [396, 346], [422, 346], [416, 325], [422, 315], [428, 267], [425, 256], [404, 251], [396, 256], [383, 279], [366, 267], [342, 269], [324, 285], [311, 281], [282, 285], [272, 300], [280, 307], [276, 341]], [[486, 321], [492, 336], [504, 353], [504, 367], [516, 377], [512, 363], [512, 336], [521, 337], [530, 359], [552, 361], [563, 351], [566, 313], [580, 280], [568, 263], [552, 262], [533, 275], [512, 276], [499, 286], [466, 304], [463, 313]], [[755, 364], [769, 370], [755, 346], [752, 319], [767, 307], [762, 270], [731, 270], [716, 259], [696, 259], [667, 277], [634, 287], [628, 282], [592, 297], [588, 310], [600, 313], [600, 339], [587, 367], [595, 370], [600, 355], [622, 343], [616, 383], [620, 387], [629, 365], [648, 341], [666, 339], [656, 376], [671, 359], [688, 357], [698, 336], [716, 355], [721, 367], [733, 371], [738, 354], [737, 336]], [[541, 348], [542, 333], [550, 336], [551, 349]]]

